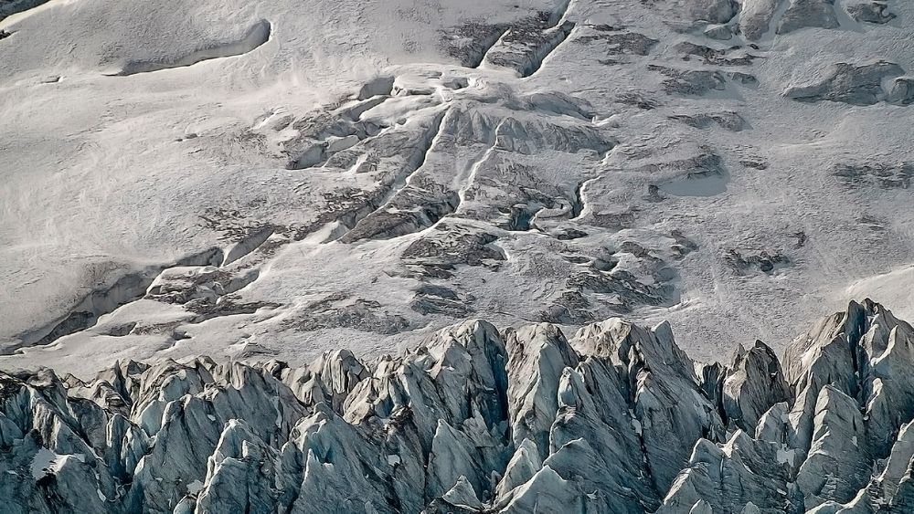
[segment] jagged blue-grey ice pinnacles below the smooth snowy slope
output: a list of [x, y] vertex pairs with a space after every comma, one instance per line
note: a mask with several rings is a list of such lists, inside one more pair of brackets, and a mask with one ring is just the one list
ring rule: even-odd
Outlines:
[[870, 300], [783, 363], [670, 326], [468, 320], [375, 362], [0, 372], [5, 512], [909, 512], [914, 328]]

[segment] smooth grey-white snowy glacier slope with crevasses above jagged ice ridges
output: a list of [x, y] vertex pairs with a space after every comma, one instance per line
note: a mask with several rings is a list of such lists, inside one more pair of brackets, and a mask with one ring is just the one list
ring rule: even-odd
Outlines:
[[620, 314], [708, 359], [849, 296], [912, 316], [911, 20], [875, 0], [9, 16], [0, 366], [307, 362], [474, 316]]

